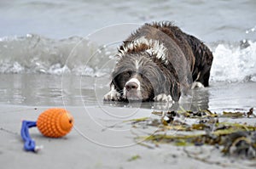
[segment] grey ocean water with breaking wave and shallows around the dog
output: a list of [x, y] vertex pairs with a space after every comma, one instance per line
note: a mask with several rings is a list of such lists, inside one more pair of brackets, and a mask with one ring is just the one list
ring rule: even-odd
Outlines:
[[[170, 20], [214, 55], [212, 87], [195, 92], [198, 103], [215, 109], [229, 96], [227, 107], [247, 109], [256, 95], [255, 8], [253, 0], [1, 1], [0, 103], [102, 104], [122, 40], [143, 23]], [[218, 91], [233, 95], [218, 99]]]

